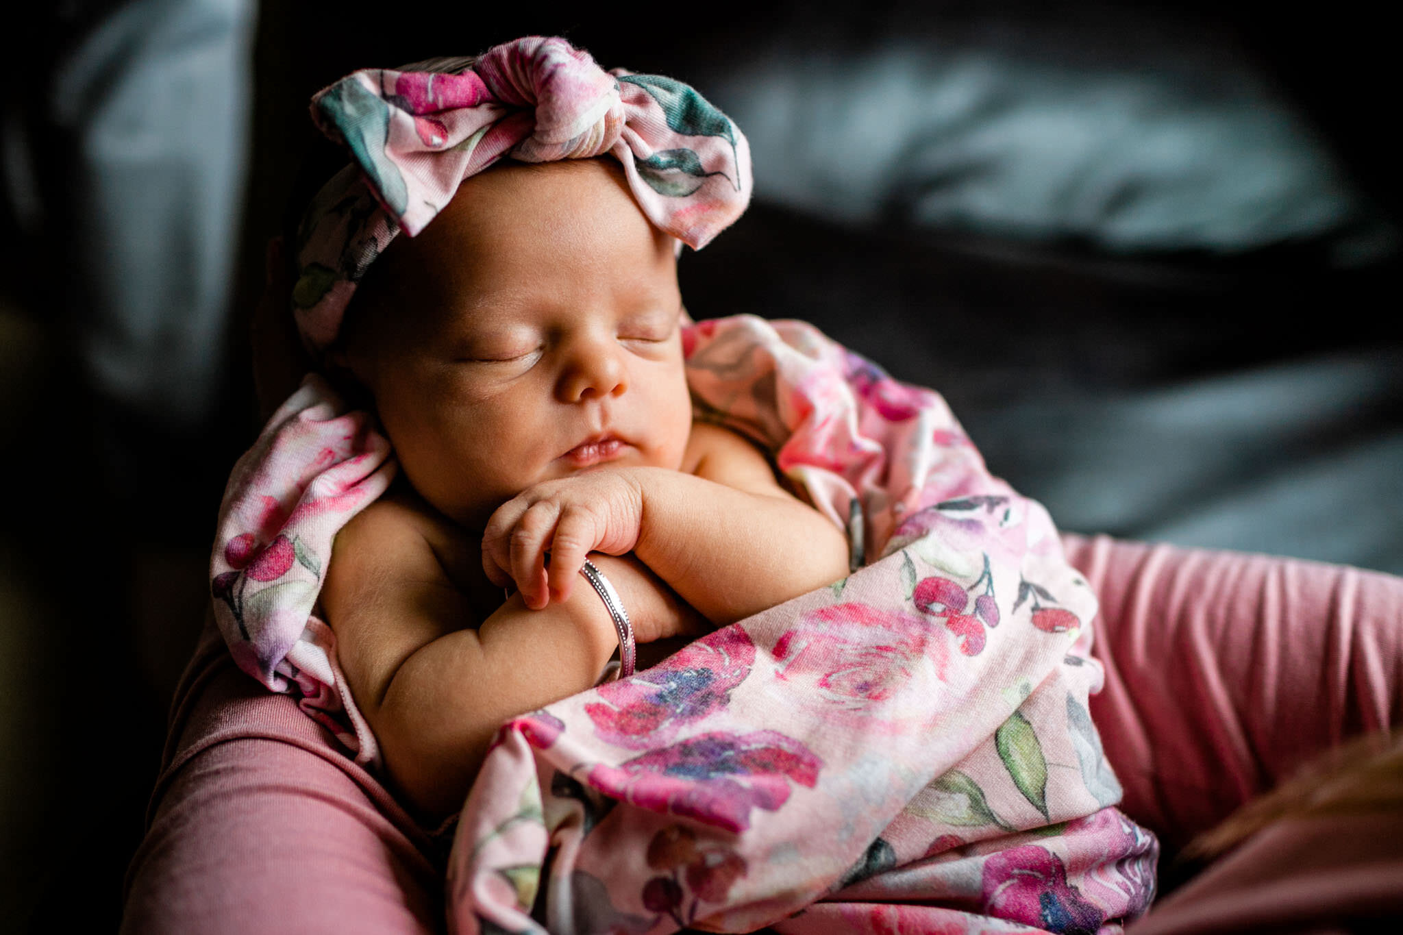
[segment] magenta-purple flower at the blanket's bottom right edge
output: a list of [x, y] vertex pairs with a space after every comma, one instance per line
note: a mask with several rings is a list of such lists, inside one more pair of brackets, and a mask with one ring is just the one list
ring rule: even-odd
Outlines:
[[1044, 847], [1027, 844], [984, 862], [984, 911], [1066, 935], [1093, 935], [1106, 913], [1066, 882], [1066, 866]]

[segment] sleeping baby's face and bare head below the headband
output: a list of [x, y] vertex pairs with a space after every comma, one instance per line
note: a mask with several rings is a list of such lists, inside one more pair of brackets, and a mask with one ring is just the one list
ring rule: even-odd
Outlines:
[[469, 178], [356, 304], [345, 363], [414, 488], [470, 528], [540, 481], [682, 464], [673, 245], [612, 160]]

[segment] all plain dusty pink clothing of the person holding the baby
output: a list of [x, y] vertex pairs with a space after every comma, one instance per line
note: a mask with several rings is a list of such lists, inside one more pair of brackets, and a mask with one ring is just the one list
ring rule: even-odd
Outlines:
[[[1122, 807], [1172, 845], [1337, 739], [1399, 726], [1403, 579], [1106, 537], [1063, 544], [1101, 600], [1107, 684], [1093, 715]], [[290, 698], [243, 676], [213, 628], [177, 694], [149, 821], [128, 876], [126, 932], [442, 928], [428, 835]], [[1355, 911], [1397, 914], [1393, 827], [1381, 817], [1281, 826], [1131, 932], [1280, 931], [1282, 911], [1302, 931]], [[310, 852], [307, 828], [325, 841]], [[1367, 865], [1350, 869], [1365, 833]]]

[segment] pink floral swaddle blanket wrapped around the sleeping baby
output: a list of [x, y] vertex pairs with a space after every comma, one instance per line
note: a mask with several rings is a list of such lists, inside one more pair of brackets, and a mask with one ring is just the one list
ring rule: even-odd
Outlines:
[[[1096, 597], [1047, 512], [937, 394], [810, 325], [703, 321], [685, 352], [699, 418], [763, 444], [856, 571], [505, 725], [456, 831], [456, 929], [1093, 932], [1143, 911], [1157, 844], [1113, 807]], [[362, 760], [310, 611], [387, 454], [309, 378], [236, 468], [212, 562], [240, 664]]]

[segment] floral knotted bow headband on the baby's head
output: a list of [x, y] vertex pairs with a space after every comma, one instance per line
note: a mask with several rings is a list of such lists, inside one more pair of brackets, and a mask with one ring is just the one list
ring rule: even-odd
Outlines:
[[314, 355], [330, 345], [366, 268], [403, 230], [424, 230], [459, 184], [502, 157], [609, 156], [659, 230], [700, 250], [751, 198], [751, 150], [692, 87], [605, 71], [558, 38], [477, 59], [366, 69], [321, 90], [311, 116], [354, 163], [313, 199], [297, 233], [293, 314]]

